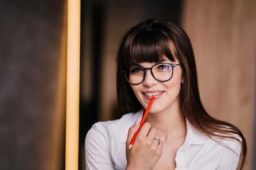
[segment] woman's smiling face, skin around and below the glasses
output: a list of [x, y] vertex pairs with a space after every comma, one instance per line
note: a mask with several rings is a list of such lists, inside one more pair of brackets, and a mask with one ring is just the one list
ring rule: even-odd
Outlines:
[[[171, 62], [166, 58], [164, 62], [180, 64], [180, 62]], [[156, 63], [143, 62], [138, 65], [142, 68], [150, 68]], [[137, 99], [144, 108], [147, 108], [150, 99], [155, 96], [150, 113], [159, 113], [168, 110], [176, 110], [180, 107], [180, 86], [183, 83], [182, 68], [180, 65], [173, 68], [173, 76], [167, 82], [157, 81], [150, 70], [146, 70], [144, 81], [138, 85], [131, 85]]]

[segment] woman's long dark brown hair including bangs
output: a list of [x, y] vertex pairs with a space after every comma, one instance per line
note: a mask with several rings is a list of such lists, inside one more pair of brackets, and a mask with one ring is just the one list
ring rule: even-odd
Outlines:
[[[174, 48], [170, 48], [170, 43]], [[146, 20], [130, 28], [121, 40], [117, 53], [117, 100], [120, 115], [137, 112], [142, 108], [121, 71], [134, 63], [161, 62], [164, 56], [182, 63], [184, 82], [180, 90], [180, 108], [183, 116], [204, 135], [241, 142], [239, 169], [242, 170], [247, 153], [245, 138], [236, 126], [214, 119], [202, 106], [191, 42], [186, 32], [173, 22]], [[237, 135], [242, 141], [234, 137]]]

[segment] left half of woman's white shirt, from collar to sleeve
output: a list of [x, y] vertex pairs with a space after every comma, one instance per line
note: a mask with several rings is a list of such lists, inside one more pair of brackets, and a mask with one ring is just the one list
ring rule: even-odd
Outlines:
[[125, 167], [125, 143], [128, 129], [142, 117], [143, 110], [128, 113], [120, 119], [99, 121], [85, 137], [86, 169], [120, 169]]

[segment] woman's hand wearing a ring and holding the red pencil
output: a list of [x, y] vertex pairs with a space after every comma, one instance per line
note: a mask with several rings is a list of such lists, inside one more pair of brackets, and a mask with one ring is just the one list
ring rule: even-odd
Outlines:
[[161, 138], [151, 124], [145, 122], [135, 139], [135, 142], [129, 150], [129, 144], [133, 135], [139, 129], [139, 124], [130, 127], [126, 140], [126, 170], [152, 170], [162, 155], [163, 142], [155, 140], [155, 137]]

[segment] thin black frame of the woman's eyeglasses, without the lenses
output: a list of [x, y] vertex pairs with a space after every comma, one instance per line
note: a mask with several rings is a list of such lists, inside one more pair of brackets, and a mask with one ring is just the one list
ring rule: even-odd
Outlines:
[[[169, 79], [167, 79], [167, 80], [158, 80], [157, 78], [155, 78], [155, 75], [153, 74], [152, 68], [153, 68], [155, 65], [158, 65], [158, 64], [170, 64], [171, 67], [172, 67], [172, 69], [173, 69], [175, 66], [181, 65], [181, 64], [173, 64], [173, 63], [168, 63], [168, 62], [161, 62], [161, 63], [154, 64], [152, 67], [148, 67], [148, 68], [142, 68], [141, 66], [130, 66], [130, 67], [124, 69], [124, 70], [121, 71], [121, 72], [124, 73], [124, 75], [125, 75], [126, 80], [128, 81], [128, 83], [130, 83], [130, 84], [132, 84], [132, 85], [138, 85], [138, 84], [141, 84], [141, 83], [144, 81], [144, 79], [145, 79], [145, 77], [146, 77], [146, 70], [150, 70], [151, 75], [152, 75], [152, 76], [154, 77], [154, 79], [156, 79], [158, 82], [167, 82], [167, 81], [169, 81], [169, 80], [173, 77], [173, 73], [172, 73], [172, 75], [171, 75], [171, 78], [169, 78]], [[129, 69], [129, 72], [130, 72], [130, 68], [133, 68], [133, 67], [141, 68], [141, 70], [143, 70], [143, 72], [144, 72], [144, 77], [143, 77], [143, 79], [142, 79], [142, 81], [141, 81], [140, 83], [133, 84], [133, 83], [131, 83], [131, 82], [129, 81], [129, 78], [126, 76], [126, 73], [125, 73], [126, 70]]]

